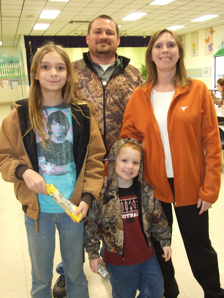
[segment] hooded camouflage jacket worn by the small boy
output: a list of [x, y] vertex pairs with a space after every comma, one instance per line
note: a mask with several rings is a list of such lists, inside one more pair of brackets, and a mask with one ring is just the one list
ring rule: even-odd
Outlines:
[[[120, 147], [127, 142], [136, 143], [142, 150], [141, 144], [130, 138], [116, 141], [111, 148], [108, 160], [108, 186], [99, 199], [92, 203], [85, 218], [84, 247], [89, 254], [89, 259], [99, 257], [100, 240], [107, 250], [118, 254], [123, 253], [124, 231], [115, 161]], [[151, 232], [160, 241], [161, 247], [170, 245], [171, 233], [162, 206], [154, 198], [153, 188], [142, 180], [142, 171], [143, 151], [139, 175], [135, 182], [138, 185], [137, 195], [142, 232], [151, 251]]]

